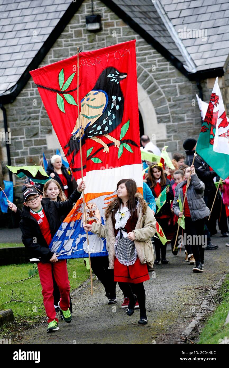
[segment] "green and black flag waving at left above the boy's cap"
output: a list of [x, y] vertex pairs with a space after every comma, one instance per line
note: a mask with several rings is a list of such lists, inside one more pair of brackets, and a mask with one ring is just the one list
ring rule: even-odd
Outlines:
[[46, 174], [42, 166], [8, 166], [8, 169], [12, 171], [18, 178], [23, 178], [27, 176], [29, 179], [35, 183], [44, 184], [46, 181], [50, 180], [49, 175]]

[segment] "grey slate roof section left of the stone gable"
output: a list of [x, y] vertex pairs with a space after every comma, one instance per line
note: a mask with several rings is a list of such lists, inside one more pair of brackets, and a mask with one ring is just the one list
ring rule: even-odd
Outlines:
[[0, 93], [17, 83], [71, 2], [0, 1]]

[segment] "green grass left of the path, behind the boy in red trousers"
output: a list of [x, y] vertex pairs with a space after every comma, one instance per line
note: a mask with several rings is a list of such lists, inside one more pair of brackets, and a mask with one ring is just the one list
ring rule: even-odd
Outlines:
[[[90, 277], [90, 271], [86, 269], [82, 258], [69, 259], [67, 267], [71, 290]], [[21, 330], [28, 327], [28, 321], [46, 321], [39, 275], [37, 273], [29, 278], [29, 275], [34, 275], [36, 268], [36, 263], [0, 266], [0, 309], [12, 309], [16, 319], [12, 325], [0, 328], [0, 337], [9, 337], [11, 333], [14, 335], [16, 330], [19, 336]]]

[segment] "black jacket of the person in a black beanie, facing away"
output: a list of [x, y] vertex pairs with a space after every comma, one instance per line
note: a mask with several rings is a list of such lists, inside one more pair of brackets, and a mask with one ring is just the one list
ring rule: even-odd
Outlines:
[[[192, 165], [194, 152], [195, 151], [186, 151], [187, 159], [185, 163], [189, 166]], [[215, 173], [215, 171], [211, 171], [208, 164], [199, 155], [194, 159], [194, 167], [198, 178], [203, 181], [205, 185], [204, 195], [215, 192], [216, 189], [213, 178], [217, 176], [217, 173]]]

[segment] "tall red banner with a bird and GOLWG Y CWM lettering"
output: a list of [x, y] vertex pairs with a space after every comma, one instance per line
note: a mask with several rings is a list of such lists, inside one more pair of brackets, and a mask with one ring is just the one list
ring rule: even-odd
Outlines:
[[[62, 222], [50, 249], [61, 258], [106, 256], [106, 239], [83, 224], [104, 224], [119, 180], [132, 178], [142, 192], [135, 40], [79, 53], [30, 72], [76, 180], [81, 180], [82, 143], [85, 202], [80, 198]], [[80, 121], [80, 129], [79, 129]]]

